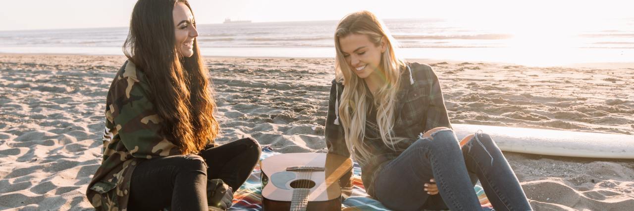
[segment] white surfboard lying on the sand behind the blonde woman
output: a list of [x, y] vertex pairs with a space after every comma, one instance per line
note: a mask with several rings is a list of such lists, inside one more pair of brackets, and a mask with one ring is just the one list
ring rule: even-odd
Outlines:
[[451, 124], [458, 139], [478, 130], [491, 135], [500, 150], [538, 155], [634, 159], [634, 135], [586, 133], [474, 124]]

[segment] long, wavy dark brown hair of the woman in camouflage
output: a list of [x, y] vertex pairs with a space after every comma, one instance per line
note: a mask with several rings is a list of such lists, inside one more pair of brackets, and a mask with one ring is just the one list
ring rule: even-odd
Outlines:
[[[162, 118], [162, 133], [182, 154], [200, 152], [213, 143], [219, 124], [213, 116], [216, 103], [198, 41], [193, 55], [179, 56], [172, 11], [186, 0], [139, 0], [130, 20], [124, 54], [150, 83], [150, 100]], [[196, 25], [193, 25], [196, 27]]]

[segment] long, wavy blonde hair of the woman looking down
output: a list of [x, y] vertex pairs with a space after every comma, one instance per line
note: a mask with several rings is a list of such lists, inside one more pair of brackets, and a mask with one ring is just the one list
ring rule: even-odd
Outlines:
[[[374, 102], [367, 102], [365, 81], [356, 76], [350, 68], [339, 44], [339, 39], [351, 34], [366, 35], [376, 46], [380, 45], [382, 40], [387, 45], [379, 65], [382, 67], [380, 74], [385, 83], [380, 85], [378, 92], [375, 93]], [[359, 11], [345, 16], [339, 21], [335, 31], [335, 49], [337, 50], [335, 78], [346, 86], [339, 102], [339, 119], [344, 128], [349, 152], [358, 155], [355, 159], [362, 163], [372, 156], [370, 151], [363, 147], [366, 112], [370, 104], [374, 104], [377, 108], [377, 128], [383, 143], [394, 150], [394, 145], [403, 140], [403, 138], [395, 137], [392, 129], [396, 115], [394, 114], [396, 93], [401, 81], [400, 70], [406, 64], [396, 56], [394, 45], [396, 41], [387, 28], [369, 11]], [[355, 151], [357, 154], [353, 153]]]

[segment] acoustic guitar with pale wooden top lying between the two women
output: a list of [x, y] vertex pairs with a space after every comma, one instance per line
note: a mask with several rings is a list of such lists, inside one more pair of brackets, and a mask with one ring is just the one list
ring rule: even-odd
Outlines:
[[260, 167], [264, 210], [341, 210], [339, 180], [350, 175], [353, 162], [335, 154], [292, 153], [268, 157]]

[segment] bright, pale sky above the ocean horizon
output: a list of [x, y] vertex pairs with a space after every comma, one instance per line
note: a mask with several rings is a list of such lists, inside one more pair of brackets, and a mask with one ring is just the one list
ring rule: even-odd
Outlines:
[[[422, 1], [422, 0], [190, 0], [199, 24], [233, 20], [340, 20], [366, 9], [383, 19], [440, 18], [482, 27], [547, 25], [567, 27], [610, 18], [634, 18], [630, 1]], [[0, 31], [56, 28], [127, 27], [133, 0], [3, 1]], [[601, 22], [603, 23], [603, 22]]]

